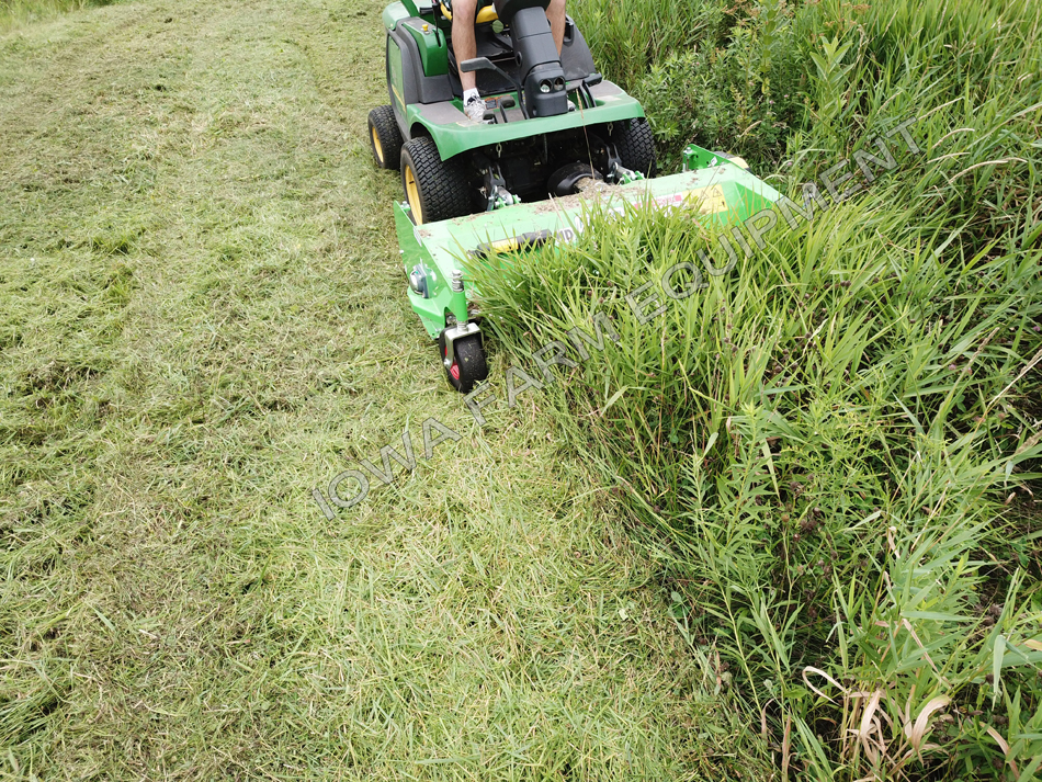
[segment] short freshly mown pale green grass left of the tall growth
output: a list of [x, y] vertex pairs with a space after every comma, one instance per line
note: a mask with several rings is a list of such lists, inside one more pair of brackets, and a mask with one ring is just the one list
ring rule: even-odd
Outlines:
[[[767, 778], [543, 403], [477, 430], [445, 385], [365, 143], [380, 10], [0, 37], [0, 775]], [[432, 415], [462, 440], [325, 517]]]

